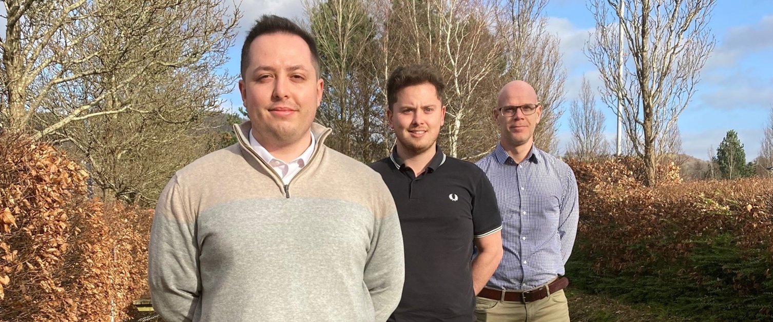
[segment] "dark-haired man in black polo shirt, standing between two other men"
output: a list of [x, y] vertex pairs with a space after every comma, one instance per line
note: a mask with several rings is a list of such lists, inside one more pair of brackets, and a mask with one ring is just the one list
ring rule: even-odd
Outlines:
[[386, 85], [397, 144], [370, 167], [390, 188], [403, 229], [405, 284], [389, 321], [475, 321], [475, 294], [502, 259], [502, 219], [489, 179], [435, 143], [443, 88], [428, 66], [397, 68]]

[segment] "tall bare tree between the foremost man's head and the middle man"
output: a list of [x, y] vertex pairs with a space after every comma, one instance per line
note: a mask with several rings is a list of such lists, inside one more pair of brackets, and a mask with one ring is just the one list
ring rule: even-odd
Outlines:
[[332, 128], [331, 147], [366, 163], [392, 143], [383, 135], [388, 128], [374, 56], [379, 44], [368, 6], [360, 0], [305, 2], [325, 80], [317, 119]]

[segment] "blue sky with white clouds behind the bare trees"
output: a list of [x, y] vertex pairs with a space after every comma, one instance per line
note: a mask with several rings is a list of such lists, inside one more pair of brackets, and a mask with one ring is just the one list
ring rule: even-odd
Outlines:
[[[232, 60], [226, 68], [238, 71], [243, 31], [260, 15], [275, 14], [300, 18], [301, 0], [243, 0], [240, 8], [240, 37], [230, 50]], [[594, 88], [601, 85], [598, 71], [582, 49], [594, 29], [594, 19], [583, 0], [552, 0], [545, 9], [549, 31], [561, 39], [561, 53], [567, 69], [566, 109], [579, 92], [582, 76]], [[716, 152], [727, 130], [736, 130], [746, 149], [747, 160], [759, 153], [762, 130], [773, 108], [773, 1], [717, 0], [710, 28], [717, 46], [701, 72], [701, 82], [693, 101], [679, 117], [682, 146], [686, 154], [708, 159], [708, 149]], [[235, 84], [234, 84], [235, 85]], [[236, 86], [223, 97], [233, 106], [241, 105]], [[598, 102], [606, 114], [607, 137], [614, 140], [615, 114]], [[568, 111], [560, 120], [560, 152], [570, 138]], [[612, 141], [614, 144], [614, 141]]]

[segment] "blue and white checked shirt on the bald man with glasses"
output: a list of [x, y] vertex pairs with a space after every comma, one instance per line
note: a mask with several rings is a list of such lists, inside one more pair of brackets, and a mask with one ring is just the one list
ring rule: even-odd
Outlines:
[[486, 286], [530, 290], [564, 275], [580, 218], [572, 169], [536, 147], [517, 164], [501, 144], [476, 164], [502, 215], [504, 255]]

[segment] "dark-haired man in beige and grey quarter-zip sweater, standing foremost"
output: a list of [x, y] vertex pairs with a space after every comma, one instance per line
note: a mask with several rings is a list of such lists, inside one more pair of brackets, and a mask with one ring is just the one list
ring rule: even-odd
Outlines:
[[263, 16], [242, 49], [238, 144], [177, 171], [148, 249], [153, 306], [177, 321], [384, 321], [404, 255], [389, 190], [324, 145], [315, 42]]

